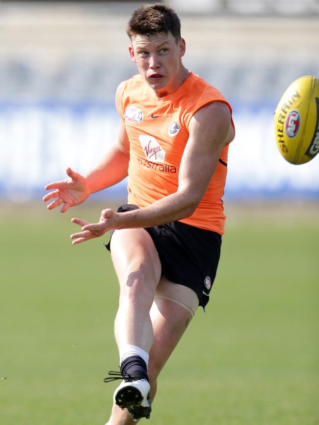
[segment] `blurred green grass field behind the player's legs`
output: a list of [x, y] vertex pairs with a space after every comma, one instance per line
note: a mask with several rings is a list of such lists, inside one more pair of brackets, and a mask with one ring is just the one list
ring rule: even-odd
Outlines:
[[[189, 325], [142, 423], [319, 424], [318, 207], [226, 211], [208, 311]], [[69, 240], [71, 217], [96, 221], [100, 210], [2, 205], [1, 425], [109, 418], [117, 384], [103, 378], [118, 365], [117, 281], [101, 240]]]

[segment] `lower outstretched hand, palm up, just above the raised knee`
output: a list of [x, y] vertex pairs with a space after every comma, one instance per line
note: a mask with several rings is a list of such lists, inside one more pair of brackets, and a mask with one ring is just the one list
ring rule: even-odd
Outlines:
[[70, 236], [71, 239], [73, 239], [72, 245], [76, 245], [81, 242], [89, 241], [93, 238], [99, 238], [108, 230], [116, 228], [117, 219], [116, 213], [112, 209], [108, 208], [102, 210], [99, 223], [91, 224], [76, 218], [73, 218], [71, 223], [76, 223], [82, 227], [79, 233], [74, 233]]

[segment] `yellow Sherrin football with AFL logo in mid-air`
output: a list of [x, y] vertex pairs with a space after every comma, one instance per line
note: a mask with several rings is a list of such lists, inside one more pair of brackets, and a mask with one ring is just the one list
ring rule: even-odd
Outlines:
[[319, 152], [319, 80], [306, 75], [293, 81], [275, 111], [278, 149], [292, 164], [304, 164]]

